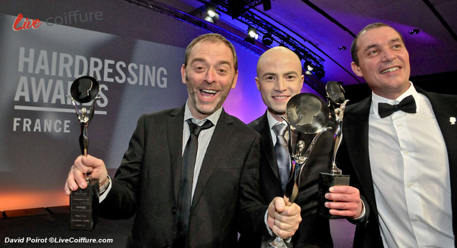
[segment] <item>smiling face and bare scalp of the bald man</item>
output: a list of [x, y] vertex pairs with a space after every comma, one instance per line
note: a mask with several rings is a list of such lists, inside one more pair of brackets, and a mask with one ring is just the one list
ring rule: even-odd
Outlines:
[[287, 102], [300, 93], [304, 76], [300, 58], [286, 47], [273, 47], [258, 58], [256, 84], [274, 119], [282, 121]]

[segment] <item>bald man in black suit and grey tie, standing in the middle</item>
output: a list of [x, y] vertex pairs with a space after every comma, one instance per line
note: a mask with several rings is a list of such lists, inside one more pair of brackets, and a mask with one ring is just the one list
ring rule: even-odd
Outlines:
[[[288, 156], [277, 155], [275, 145], [280, 142], [277, 138], [277, 125], [286, 123], [281, 117], [286, 115], [286, 105], [291, 97], [300, 93], [304, 76], [300, 58], [286, 47], [273, 47], [258, 59], [256, 84], [261, 92], [263, 102], [268, 107], [264, 115], [248, 124], [249, 127], [261, 134], [261, 166], [259, 194], [268, 203], [274, 197], [284, 196], [284, 183], [288, 179], [290, 161]], [[287, 137], [287, 133], [285, 135]], [[295, 203], [301, 207], [302, 222], [293, 235], [293, 247], [332, 247], [329, 220], [317, 213], [318, 208], [318, 175], [319, 172], [330, 172], [329, 152], [332, 149], [332, 131], [326, 131], [316, 143], [316, 149], [310, 156], [304, 168], [300, 181], [300, 192]], [[309, 142], [309, 138], [306, 142]], [[287, 167], [284, 167], [286, 164]], [[268, 221], [272, 217], [268, 215]], [[249, 220], [246, 220], [249, 222]], [[240, 235], [241, 247], [262, 247], [274, 239], [269, 233], [246, 232]], [[290, 240], [288, 240], [290, 241]]]

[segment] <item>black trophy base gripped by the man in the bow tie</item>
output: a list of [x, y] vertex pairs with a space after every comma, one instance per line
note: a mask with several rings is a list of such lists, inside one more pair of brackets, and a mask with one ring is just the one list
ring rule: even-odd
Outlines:
[[329, 192], [329, 188], [334, 185], [349, 185], [349, 176], [348, 175], [335, 175], [330, 173], [319, 173], [319, 190], [318, 190], [318, 213], [323, 217], [327, 217], [329, 219], [342, 219], [346, 218], [344, 216], [336, 216], [331, 215], [329, 213], [330, 208], [324, 206], [325, 201], [325, 194]]

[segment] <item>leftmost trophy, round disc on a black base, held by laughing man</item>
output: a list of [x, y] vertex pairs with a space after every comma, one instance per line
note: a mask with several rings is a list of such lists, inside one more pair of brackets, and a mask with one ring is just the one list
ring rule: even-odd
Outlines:
[[[75, 106], [76, 115], [79, 119], [81, 133], [79, 135], [79, 147], [81, 154], [87, 156], [89, 138], [87, 129], [89, 122], [93, 118], [95, 112], [95, 101], [100, 99], [98, 93], [100, 85], [91, 76], [82, 76], [77, 78], [71, 85], [71, 99]], [[76, 102], [86, 104], [92, 101], [91, 107], [85, 107], [79, 110]], [[87, 188], [84, 190], [78, 188], [70, 194], [70, 229], [71, 230], [93, 230], [98, 219], [98, 203], [99, 203], [99, 185], [98, 179], [89, 179], [86, 175]]]

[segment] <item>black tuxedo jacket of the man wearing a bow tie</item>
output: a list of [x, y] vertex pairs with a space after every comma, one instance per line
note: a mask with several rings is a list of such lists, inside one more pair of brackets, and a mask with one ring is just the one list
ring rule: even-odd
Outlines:
[[[449, 122], [449, 117], [457, 117], [457, 96], [425, 92], [420, 88], [416, 90], [430, 100], [446, 143], [451, 178], [452, 225], [454, 237], [457, 238], [457, 124], [451, 125]], [[354, 247], [382, 247], [369, 161], [370, 107], [371, 96], [346, 108], [343, 121], [343, 144], [339, 153], [343, 172], [351, 174], [351, 185], [364, 195], [365, 204], [368, 204], [367, 207], [371, 212], [364, 222], [357, 224]], [[457, 247], [457, 242], [455, 245]]]

